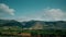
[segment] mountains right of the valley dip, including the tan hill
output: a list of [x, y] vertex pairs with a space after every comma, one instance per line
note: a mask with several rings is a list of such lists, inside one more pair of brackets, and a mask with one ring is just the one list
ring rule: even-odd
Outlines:
[[[66, 21], [44, 22], [44, 21], [29, 21], [22, 22], [25, 28], [42, 28], [42, 29], [66, 29]], [[38, 24], [38, 25], [37, 25]]]

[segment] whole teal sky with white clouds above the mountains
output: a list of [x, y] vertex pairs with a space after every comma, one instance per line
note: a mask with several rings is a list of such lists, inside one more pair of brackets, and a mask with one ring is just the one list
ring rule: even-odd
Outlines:
[[0, 0], [0, 18], [66, 21], [66, 0]]

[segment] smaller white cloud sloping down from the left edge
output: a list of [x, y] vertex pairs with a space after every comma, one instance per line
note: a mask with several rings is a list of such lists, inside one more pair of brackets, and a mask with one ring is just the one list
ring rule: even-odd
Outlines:
[[14, 15], [14, 9], [10, 9], [4, 3], [0, 3], [0, 13], [9, 13], [10, 15]]

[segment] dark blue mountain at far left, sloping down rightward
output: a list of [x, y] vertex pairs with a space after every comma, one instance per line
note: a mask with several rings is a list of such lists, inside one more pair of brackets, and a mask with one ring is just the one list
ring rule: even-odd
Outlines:
[[0, 20], [0, 26], [19, 26], [22, 27], [23, 25], [14, 20]]

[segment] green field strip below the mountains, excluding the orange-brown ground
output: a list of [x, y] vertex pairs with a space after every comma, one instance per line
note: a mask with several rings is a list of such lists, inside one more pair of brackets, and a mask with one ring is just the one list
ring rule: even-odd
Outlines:
[[23, 29], [20, 27], [0, 27], [0, 37], [21, 37], [22, 33], [31, 35], [66, 35], [66, 29]]

